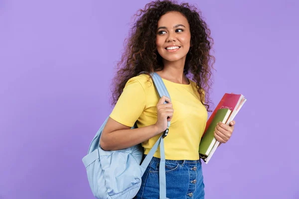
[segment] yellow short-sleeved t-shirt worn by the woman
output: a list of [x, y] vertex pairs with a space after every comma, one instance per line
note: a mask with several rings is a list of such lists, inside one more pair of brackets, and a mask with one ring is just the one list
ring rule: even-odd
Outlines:
[[[170, 95], [174, 109], [168, 135], [164, 138], [165, 159], [198, 160], [199, 142], [207, 121], [207, 110], [199, 100], [196, 84], [177, 84], [162, 79]], [[131, 78], [117, 101], [110, 117], [126, 126], [138, 127], [155, 124], [158, 96], [148, 75]], [[145, 154], [161, 134], [142, 143]], [[160, 158], [159, 148], [154, 157]]]

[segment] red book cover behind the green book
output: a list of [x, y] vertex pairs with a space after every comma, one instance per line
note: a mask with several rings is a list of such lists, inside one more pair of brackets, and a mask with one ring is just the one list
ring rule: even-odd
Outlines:
[[[233, 111], [237, 108], [236, 106], [237, 106], [238, 101], [240, 100], [241, 96], [242, 95], [237, 95], [237, 94], [228, 94], [228, 93], [224, 94], [224, 96], [222, 97], [222, 99], [218, 103], [217, 107], [215, 108], [215, 110], [213, 111], [211, 116], [209, 117], [209, 119], [207, 121], [207, 124], [206, 124], [206, 127], [205, 127], [205, 130], [204, 130], [204, 133], [206, 132], [209, 125], [211, 124], [217, 110], [221, 109], [221, 108], [229, 108], [233, 113]], [[204, 133], [203, 133], [203, 135], [204, 135]]]

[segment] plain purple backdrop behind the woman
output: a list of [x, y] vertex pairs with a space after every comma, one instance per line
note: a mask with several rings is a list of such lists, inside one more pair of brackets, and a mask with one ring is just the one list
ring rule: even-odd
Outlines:
[[[147, 2], [0, 1], [0, 199], [93, 199], [81, 159]], [[215, 40], [214, 104], [225, 92], [248, 99], [203, 164], [206, 198], [299, 199], [299, 2], [189, 2]]]

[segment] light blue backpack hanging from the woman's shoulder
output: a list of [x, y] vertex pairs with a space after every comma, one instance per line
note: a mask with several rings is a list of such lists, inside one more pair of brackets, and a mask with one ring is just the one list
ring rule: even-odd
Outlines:
[[[170, 99], [160, 76], [156, 73], [150, 75], [159, 96], [166, 96]], [[102, 130], [108, 118], [92, 140], [88, 154], [82, 159], [93, 195], [97, 199], [133, 199], [141, 187], [142, 176], [160, 145], [159, 198], [166, 199], [163, 139], [168, 133], [170, 122], [142, 162], [144, 149], [141, 144], [117, 151], [104, 151], [99, 146]], [[136, 125], [132, 128], [136, 128]]]

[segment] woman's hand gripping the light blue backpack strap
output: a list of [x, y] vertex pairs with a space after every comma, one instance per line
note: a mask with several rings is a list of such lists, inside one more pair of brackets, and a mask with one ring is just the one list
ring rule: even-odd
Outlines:
[[[167, 103], [164, 103], [164, 102]], [[158, 101], [157, 105], [157, 122], [154, 124], [157, 132], [161, 133], [167, 128], [167, 121], [170, 121], [172, 119], [173, 115], [173, 108], [172, 103], [169, 98], [163, 96]]]

